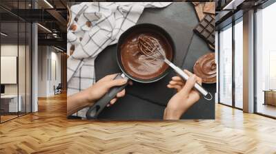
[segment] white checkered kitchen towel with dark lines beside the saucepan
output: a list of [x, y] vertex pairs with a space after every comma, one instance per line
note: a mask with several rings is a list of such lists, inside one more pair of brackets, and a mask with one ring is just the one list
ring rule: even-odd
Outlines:
[[[108, 45], [135, 25], [144, 8], [163, 8], [168, 2], [88, 2], [72, 5], [67, 50], [75, 52], [67, 60], [68, 96], [95, 83], [94, 62]], [[72, 47], [73, 46], [73, 47]], [[85, 118], [86, 109], [75, 115]]]

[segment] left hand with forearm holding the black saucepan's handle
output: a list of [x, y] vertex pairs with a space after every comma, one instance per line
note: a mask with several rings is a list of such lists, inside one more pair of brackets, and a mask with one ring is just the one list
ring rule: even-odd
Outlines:
[[[77, 111], [85, 108], [90, 107], [94, 104], [99, 98], [101, 98], [104, 94], [108, 92], [108, 90], [115, 86], [125, 85], [128, 81], [126, 79], [115, 79], [117, 74], [111, 74], [101, 78], [97, 83], [88, 87], [77, 94], [69, 96], [67, 98], [67, 114], [72, 115], [72, 113], [76, 113]], [[132, 85], [132, 82], [129, 82]], [[126, 94], [126, 90], [123, 89], [119, 93], [117, 93], [116, 97], [110, 100], [110, 104], [107, 106], [114, 104], [118, 98], [124, 97]]]

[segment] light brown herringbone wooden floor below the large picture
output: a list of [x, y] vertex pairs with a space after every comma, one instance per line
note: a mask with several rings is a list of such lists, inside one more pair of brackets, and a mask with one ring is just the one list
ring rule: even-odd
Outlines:
[[0, 124], [0, 153], [276, 153], [276, 120], [216, 105], [216, 120], [66, 119], [66, 96]]

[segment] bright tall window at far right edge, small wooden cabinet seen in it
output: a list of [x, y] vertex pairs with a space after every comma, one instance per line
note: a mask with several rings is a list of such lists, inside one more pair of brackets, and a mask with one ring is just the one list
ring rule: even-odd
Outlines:
[[276, 117], [276, 3], [256, 12], [255, 110]]

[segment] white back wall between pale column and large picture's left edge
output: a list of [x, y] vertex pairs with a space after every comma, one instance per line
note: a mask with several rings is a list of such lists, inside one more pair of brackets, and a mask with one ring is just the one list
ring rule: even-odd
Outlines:
[[53, 47], [39, 46], [38, 58], [38, 96], [53, 96], [54, 86], [61, 83], [61, 54]]

